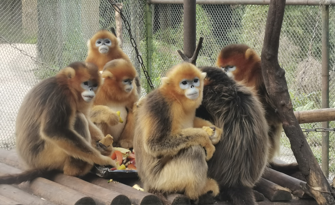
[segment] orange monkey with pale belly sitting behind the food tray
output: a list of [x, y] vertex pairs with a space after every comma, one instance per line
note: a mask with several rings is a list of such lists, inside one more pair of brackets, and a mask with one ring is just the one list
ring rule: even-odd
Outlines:
[[[103, 83], [91, 109], [91, 120], [103, 134], [113, 136], [114, 146], [131, 148], [134, 135], [133, 104], [138, 100], [135, 78], [137, 72], [124, 59], [107, 62], [101, 73]], [[123, 123], [115, 111], [120, 111]]]

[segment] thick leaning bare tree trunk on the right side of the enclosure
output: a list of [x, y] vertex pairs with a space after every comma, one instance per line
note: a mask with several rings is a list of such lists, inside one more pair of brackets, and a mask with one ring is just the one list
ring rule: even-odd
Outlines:
[[278, 110], [282, 127], [289, 138], [293, 154], [305, 176], [310, 192], [318, 204], [335, 204], [330, 185], [323, 175], [317, 161], [294, 116], [287, 89], [285, 71], [278, 63], [278, 47], [285, 0], [271, 0], [265, 26], [261, 52], [262, 75], [270, 98]]

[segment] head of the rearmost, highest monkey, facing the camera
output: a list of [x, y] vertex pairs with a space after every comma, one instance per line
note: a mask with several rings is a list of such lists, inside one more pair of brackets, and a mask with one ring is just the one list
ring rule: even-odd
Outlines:
[[118, 40], [112, 32], [101, 29], [87, 41], [87, 46], [88, 50], [95, 53], [107, 54], [111, 52], [115, 46], [118, 46]]

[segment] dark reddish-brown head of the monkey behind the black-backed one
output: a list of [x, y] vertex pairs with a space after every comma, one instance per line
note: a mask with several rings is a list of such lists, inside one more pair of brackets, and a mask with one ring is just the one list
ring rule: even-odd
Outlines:
[[244, 80], [247, 84], [251, 81], [255, 83], [252, 79], [255, 75], [261, 77], [260, 57], [245, 44], [229, 44], [222, 48], [215, 65], [224, 69], [229, 77], [237, 81]]

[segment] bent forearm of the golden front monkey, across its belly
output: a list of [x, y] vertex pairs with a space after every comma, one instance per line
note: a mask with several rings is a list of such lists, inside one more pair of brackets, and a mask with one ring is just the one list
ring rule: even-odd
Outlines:
[[[154, 127], [154, 125], [152, 126]], [[154, 130], [150, 133], [147, 129], [144, 131], [144, 136], [147, 136], [144, 148], [155, 157], [174, 156], [183, 148], [201, 145], [206, 149], [206, 159], [209, 159], [215, 150], [207, 132], [202, 128], [185, 128], [177, 133], [169, 131], [164, 133], [164, 130]]]

